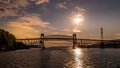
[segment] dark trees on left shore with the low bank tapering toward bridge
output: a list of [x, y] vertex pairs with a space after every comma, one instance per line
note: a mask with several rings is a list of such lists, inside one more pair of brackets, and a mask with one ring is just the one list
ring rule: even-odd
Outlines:
[[15, 50], [23, 48], [28, 48], [28, 46], [22, 42], [16, 42], [16, 37], [13, 34], [0, 29], [0, 50]]

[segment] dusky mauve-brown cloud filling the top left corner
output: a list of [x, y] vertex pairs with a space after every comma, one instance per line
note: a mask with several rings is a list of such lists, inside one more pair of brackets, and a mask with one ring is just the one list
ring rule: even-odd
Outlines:
[[18, 16], [28, 5], [27, 0], [0, 0], [0, 17]]

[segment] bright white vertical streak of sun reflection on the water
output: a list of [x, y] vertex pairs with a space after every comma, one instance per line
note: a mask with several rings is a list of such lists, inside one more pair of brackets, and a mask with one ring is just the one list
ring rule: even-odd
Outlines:
[[74, 53], [75, 53], [75, 65], [76, 65], [76, 68], [82, 68], [82, 51], [81, 49], [79, 48], [76, 48], [74, 50]]

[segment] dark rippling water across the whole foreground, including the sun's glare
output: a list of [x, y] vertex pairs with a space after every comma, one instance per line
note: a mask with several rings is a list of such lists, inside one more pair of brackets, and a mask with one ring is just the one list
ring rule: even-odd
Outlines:
[[120, 49], [63, 45], [0, 52], [0, 68], [120, 68]]

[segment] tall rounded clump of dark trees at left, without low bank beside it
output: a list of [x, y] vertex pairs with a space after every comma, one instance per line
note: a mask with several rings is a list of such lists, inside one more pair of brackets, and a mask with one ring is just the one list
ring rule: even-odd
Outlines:
[[15, 36], [8, 31], [0, 29], [0, 49], [13, 49], [15, 44]]

